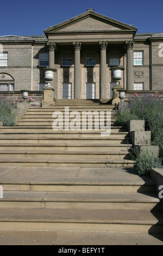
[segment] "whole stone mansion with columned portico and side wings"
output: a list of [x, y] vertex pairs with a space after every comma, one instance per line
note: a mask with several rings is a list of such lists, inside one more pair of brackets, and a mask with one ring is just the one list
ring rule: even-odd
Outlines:
[[55, 99], [111, 99], [112, 66], [128, 91], [163, 90], [163, 33], [136, 31], [87, 9], [42, 35], [0, 36], [0, 91], [43, 90], [46, 66]]

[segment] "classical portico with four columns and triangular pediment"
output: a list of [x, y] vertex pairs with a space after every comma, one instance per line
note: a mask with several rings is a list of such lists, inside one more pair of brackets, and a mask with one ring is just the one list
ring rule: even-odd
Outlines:
[[57, 69], [52, 84], [55, 97], [111, 98], [114, 81], [110, 66], [114, 65], [124, 68], [122, 87], [133, 89], [133, 38], [136, 30], [92, 10], [45, 29], [49, 68]]

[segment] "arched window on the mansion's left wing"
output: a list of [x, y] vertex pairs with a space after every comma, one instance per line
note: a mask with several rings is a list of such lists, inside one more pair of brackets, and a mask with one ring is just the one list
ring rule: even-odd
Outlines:
[[0, 73], [0, 91], [14, 91], [14, 78], [9, 74]]

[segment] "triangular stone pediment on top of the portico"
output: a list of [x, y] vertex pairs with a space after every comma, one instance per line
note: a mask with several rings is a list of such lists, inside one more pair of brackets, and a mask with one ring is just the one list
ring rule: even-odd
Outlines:
[[70, 20], [59, 23], [58, 25], [45, 29], [45, 34], [48, 33], [67, 33], [67, 32], [95, 32], [95, 31], [133, 31], [137, 28], [113, 20], [109, 17], [97, 14], [94, 11], [86, 11], [86, 13], [78, 15]]

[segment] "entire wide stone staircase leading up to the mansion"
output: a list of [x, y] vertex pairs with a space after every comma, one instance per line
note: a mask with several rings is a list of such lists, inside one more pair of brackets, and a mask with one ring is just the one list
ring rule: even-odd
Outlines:
[[135, 174], [126, 127], [112, 119], [106, 137], [100, 130], [54, 131], [52, 114], [65, 106], [80, 114], [114, 108], [106, 101], [58, 100], [0, 128], [1, 229], [161, 233], [155, 183]]

